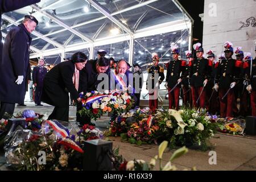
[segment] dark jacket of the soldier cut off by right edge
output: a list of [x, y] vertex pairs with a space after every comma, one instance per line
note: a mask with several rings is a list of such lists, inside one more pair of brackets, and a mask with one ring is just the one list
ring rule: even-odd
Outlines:
[[[246, 85], [251, 85], [253, 91], [256, 91], [256, 59], [253, 60], [251, 66], [251, 61], [248, 61], [249, 65], [246, 68]], [[252, 69], [251, 69], [252, 68]], [[250, 75], [251, 72], [251, 75]]]

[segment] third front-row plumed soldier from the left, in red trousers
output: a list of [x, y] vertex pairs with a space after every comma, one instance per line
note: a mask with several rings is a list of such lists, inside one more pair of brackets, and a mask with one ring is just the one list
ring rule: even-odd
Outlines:
[[[191, 91], [194, 107], [205, 108], [206, 90], [205, 86], [210, 77], [209, 61], [203, 58], [204, 49], [200, 43], [194, 44], [196, 59], [191, 64], [189, 77], [191, 78]], [[197, 105], [197, 101], [199, 105]]]

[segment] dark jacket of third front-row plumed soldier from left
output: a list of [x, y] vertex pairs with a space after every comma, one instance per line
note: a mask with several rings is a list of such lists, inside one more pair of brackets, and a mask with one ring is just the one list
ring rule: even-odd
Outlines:
[[200, 87], [204, 85], [204, 80], [210, 78], [210, 65], [207, 59], [195, 59], [190, 63], [189, 78], [191, 85]]

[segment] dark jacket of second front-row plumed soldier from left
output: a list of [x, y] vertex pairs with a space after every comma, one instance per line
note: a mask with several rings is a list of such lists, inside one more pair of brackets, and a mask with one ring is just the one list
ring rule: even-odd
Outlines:
[[177, 84], [177, 80], [179, 80], [179, 78], [183, 79], [185, 77], [186, 64], [186, 61], [181, 61], [179, 59], [169, 62], [166, 75], [166, 82], [168, 82], [168, 87], [173, 88]]

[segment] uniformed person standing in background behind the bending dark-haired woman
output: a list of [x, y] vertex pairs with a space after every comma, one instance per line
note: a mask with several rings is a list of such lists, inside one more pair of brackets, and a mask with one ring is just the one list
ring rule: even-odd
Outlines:
[[35, 86], [35, 105], [43, 106], [41, 104], [41, 96], [43, 90], [43, 81], [46, 76], [47, 69], [44, 68], [44, 60], [39, 59], [38, 66], [33, 69], [33, 85]]

